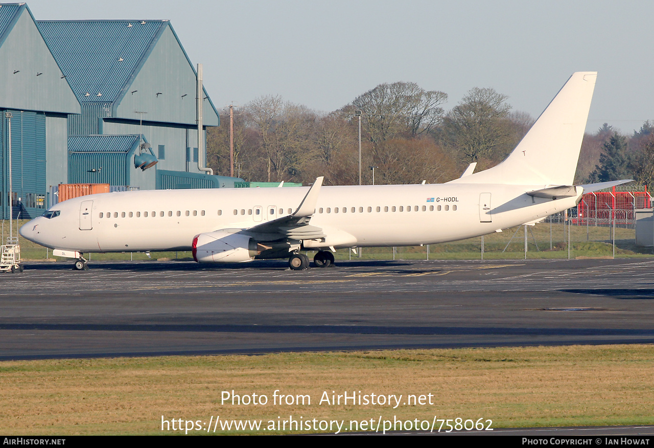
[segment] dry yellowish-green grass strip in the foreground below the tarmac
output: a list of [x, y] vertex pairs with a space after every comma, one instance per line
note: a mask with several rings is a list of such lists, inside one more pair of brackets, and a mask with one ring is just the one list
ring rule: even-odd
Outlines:
[[[651, 345], [7, 361], [0, 363], [0, 432], [162, 434], [162, 416], [181, 419], [183, 428], [187, 420], [206, 425], [216, 415], [263, 425], [238, 431], [218, 426], [216, 434], [314, 432], [278, 429], [289, 416], [345, 421], [345, 427], [350, 421], [370, 426], [371, 419], [374, 425], [380, 417], [429, 423], [483, 418], [494, 428], [651, 424], [653, 363]], [[275, 391], [292, 403], [273, 404]], [[369, 400], [373, 393], [377, 400], [402, 398], [396, 408], [342, 399], [332, 404], [333, 395], [346, 391]], [[267, 403], [223, 403], [224, 392], [259, 400], [263, 394]], [[325, 393], [330, 403], [320, 404]], [[407, 403], [409, 395], [416, 404]], [[275, 428], [263, 429], [269, 425]]]

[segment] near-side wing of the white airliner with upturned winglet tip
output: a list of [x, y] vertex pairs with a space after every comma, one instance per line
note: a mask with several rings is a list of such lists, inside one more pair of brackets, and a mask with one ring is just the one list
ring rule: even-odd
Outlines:
[[266, 239], [314, 240], [325, 238], [326, 234], [323, 229], [315, 225], [309, 225], [311, 217], [316, 212], [322, 180], [323, 176], [316, 178], [316, 182], [311, 185], [307, 195], [302, 199], [300, 206], [293, 214], [249, 227], [247, 232], [267, 234]]

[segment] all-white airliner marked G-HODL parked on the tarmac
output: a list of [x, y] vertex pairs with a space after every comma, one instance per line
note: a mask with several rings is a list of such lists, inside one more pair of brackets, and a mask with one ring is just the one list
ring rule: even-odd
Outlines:
[[200, 263], [286, 258], [307, 268], [339, 248], [417, 246], [532, 223], [576, 206], [584, 191], [628, 181], [572, 185], [596, 72], [574, 73], [509, 157], [447, 184], [151, 190], [69, 199], [20, 234], [54, 255], [192, 249]]

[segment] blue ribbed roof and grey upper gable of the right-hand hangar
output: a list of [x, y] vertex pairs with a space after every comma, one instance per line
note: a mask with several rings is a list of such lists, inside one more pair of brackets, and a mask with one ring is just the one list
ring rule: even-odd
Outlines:
[[[149, 121], [196, 123], [196, 70], [168, 20], [37, 25], [82, 105], [111, 104], [113, 118], [131, 120], [134, 110], [146, 110]], [[206, 89], [205, 96], [205, 125], [216, 126]]]

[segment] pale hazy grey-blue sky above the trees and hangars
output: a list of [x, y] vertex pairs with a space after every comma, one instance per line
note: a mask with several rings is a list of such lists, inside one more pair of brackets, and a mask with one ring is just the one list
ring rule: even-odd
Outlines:
[[575, 71], [598, 71], [587, 129], [654, 120], [654, 2], [34, 0], [37, 20], [169, 19], [216, 108], [281, 95], [336, 110], [383, 82], [509, 95], [536, 118]]

